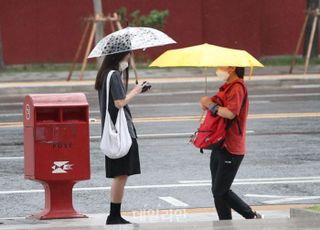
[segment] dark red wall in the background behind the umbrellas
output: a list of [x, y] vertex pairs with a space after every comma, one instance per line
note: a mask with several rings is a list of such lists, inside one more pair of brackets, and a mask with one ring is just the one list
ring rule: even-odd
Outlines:
[[[246, 49], [259, 57], [292, 53], [306, 1], [103, 0], [105, 14], [123, 6], [142, 14], [169, 10], [164, 32], [178, 44], [150, 49], [150, 58], [204, 42]], [[5, 64], [71, 62], [83, 29], [81, 18], [92, 12], [91, 0], [1, 0]]]

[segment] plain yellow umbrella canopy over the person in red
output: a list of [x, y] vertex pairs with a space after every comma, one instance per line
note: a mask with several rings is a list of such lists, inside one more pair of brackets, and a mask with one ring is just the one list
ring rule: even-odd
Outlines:
[[263, 67], [245, 50], [202, 44], [182, 49], [168, 50], [149, 66], [154, 67]]

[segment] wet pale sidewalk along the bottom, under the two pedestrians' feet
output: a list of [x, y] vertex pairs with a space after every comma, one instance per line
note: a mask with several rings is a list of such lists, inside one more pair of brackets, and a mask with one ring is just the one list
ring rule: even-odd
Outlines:
[[290, 208], [308, 205], [265, 205], [255, 206], [262, 213], [263, 220], [244, 220], [234, 213], [233, 221], [217, 221], [213, 208], [145, 210], [123, 212], [123, 217], [132, 225], [105, 226], [106, 214], [91, 214], [84, 219], [34, 220], [30, 218], [2, 219], [0, 229], [319, 229], [320, 219], [289, 219]]

